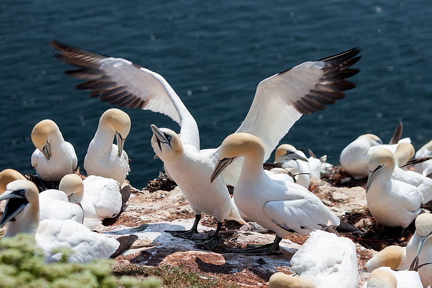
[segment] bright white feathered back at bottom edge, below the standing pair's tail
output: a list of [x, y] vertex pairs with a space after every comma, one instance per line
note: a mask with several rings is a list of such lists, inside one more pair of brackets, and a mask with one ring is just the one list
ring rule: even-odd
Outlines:
[[357, 288], [357, 250], [348, 238], [325, 231], [311, 236], [291, 258], [290, 271], [313, 279], [317, 287]]

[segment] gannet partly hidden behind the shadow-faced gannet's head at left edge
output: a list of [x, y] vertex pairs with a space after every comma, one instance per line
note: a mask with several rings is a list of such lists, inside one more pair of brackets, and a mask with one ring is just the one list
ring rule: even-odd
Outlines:
[[[68, 201], [68, 197], [66, 196], [68, 190], [67, 186], [65, 186], [67, 180], [65, 181], [65, 177], [60, 181], [59, 190], [48, 189], [39, 193], [40, 220], [72, 219], [78, 223], [83, 222], [84, 212], [82, 208]], [[6, 190], [7, 184], [18, 179], [26, 180], [21, 173], [13, 169], [5, 169], [0, 172], [0, 193]]]

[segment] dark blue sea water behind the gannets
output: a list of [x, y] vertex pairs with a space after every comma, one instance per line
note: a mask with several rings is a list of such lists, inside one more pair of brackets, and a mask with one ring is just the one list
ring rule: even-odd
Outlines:
[[[247, 114], [258, 83], [307, 60], [362, 48], [357, 87], [325, 111], [302, 116], [281, 143], [327, 154], [365, 133], [388, 142], [402, 120], [415, 148], [432, 139], [432, 5], [429, 1], [0, 2], [0, 169], [35, 173], [33, 126], [54, 120], [83, 168], [99, 117], [114, 106], [88, 99], [48, 47], [56, 39], [123, 57], [161, 74], [198, 122], [201, 148], [217, 147]], [[128, 179], [146, 186], [162, 170], [150, 124], [165, 115], [127, 110]], [[270, 158], [273, 160], [273, 158]]]

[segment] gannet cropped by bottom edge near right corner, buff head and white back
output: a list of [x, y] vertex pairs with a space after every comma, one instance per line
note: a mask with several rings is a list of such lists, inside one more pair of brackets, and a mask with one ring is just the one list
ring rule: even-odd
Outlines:
[[[393, 277], [391, 277], [392, 275]], [[422, 288], [420, 277], [416, 271], [391, 270], [381, 267], [372, 271], [363, 288]]]

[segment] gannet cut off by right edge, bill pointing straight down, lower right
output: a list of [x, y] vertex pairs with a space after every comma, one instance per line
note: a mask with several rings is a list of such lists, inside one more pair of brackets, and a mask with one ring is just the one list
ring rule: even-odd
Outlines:
[[[410, 269], [432, 262], [432, 214], [423, 213], [415, 221], [416, 231], [407, 244], [407, 263]], [[426, 288], [432, 279], [432, 264], [418, 268], [421, 282]]]

